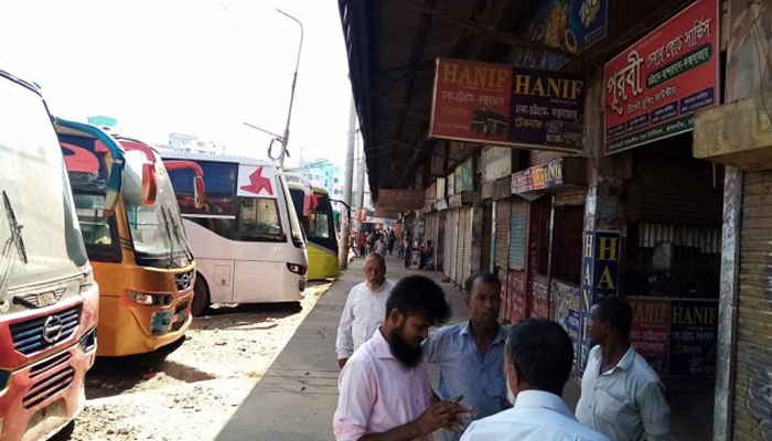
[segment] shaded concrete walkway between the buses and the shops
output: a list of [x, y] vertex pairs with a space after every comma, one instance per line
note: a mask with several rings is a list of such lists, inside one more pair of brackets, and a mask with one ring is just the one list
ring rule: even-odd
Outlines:
[[[451, 283], [442, 283], [440, 272], [405, 269], [396, 254], [386, 257], [386, 277], [395, 282], [411, 275], [435, 279], [453, 310], [449, 323], [469, 318], [461, 291]], [[300, 324], [217, 441], [333, 439], [339, 374], [335, 332], [349, 291], [363, 280], [363, 260], [355, 259]]]

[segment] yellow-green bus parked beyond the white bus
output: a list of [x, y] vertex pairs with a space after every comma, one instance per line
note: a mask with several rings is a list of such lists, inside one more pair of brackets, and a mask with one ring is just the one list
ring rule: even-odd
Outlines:
[[[304, 176], [287, 173], [287, 185], [294, 211], [308, 240], [309, 280], [337, 277], [337, 229], [326, 190], [304, 182]], [[303, 178], [302, 180], [300, 178]]]

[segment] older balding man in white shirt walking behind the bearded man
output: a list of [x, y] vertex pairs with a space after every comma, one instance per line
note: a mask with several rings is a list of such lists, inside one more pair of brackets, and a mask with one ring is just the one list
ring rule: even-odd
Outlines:
[[337, 325], [335, 351], [342, 369], [351, 355], [375, 334], [386, 316], [394, 283], [386, 280], [386, 260], [377, 252], [365, 259], [365, 281], [352, 288]]

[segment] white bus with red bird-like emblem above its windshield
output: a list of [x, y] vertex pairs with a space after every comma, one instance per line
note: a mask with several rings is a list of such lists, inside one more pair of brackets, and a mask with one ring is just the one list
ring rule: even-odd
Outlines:
[[206, 202], [191, 201], [195, 173], [170, 171], [183, 224], [196, 257], [193, 314], [212, 303], [297, 302], [305, 290], [305, 237], [287, 183], [269, 161], [164, 153], [203, 171]]

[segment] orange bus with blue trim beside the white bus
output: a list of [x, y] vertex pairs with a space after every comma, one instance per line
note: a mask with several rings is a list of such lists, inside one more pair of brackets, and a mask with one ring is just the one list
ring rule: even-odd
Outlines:
[[[195, 261], [160, 155], [150, 146], [57, 119], [86, 251], [100, 286], [98, 356], [143, 354], [191, 324]], [[124, 169], [115, 209], [105, 182]]]

